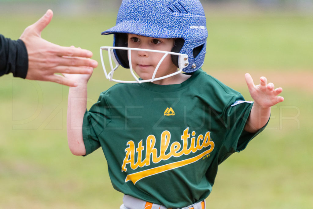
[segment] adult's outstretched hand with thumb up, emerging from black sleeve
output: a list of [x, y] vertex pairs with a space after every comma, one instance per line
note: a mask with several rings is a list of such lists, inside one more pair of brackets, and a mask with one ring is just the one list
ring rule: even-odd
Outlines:
[[28, 52], [28, 72], [26, 79], [52, 81], [66, 86], [77, 86], [74, 80], [54, 73], [91, 74], [98, 66], [97, 61], [86, 59], [92, 57], [92, 52], [74, 47], [64, 47], [53, 44], [41, 38], [41, 31], [50, 23], [52, 10], [36, 23], [28, 26], [20, 39]]

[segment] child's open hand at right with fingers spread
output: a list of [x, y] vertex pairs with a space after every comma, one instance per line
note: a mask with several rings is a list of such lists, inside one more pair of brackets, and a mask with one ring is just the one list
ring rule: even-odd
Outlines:
[[254, 85], [253, 79], [249, 73], [245, 74], [245, 79], [250, 95], [254, 99], [254, 103], [257, 103], [259, 107], [269, 108], [279, 102], [284, 101], [284, 97], [278, 96], [283, 91], [283, 89], [274, 89], [274, 84], [267, 83], [267, 79], [265, 77], [260, 77], [259, 85]]

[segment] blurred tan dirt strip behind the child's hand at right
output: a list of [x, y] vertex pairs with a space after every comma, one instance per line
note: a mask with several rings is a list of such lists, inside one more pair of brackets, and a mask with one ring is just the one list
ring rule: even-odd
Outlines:
[[307, 93], [313, 94], [313, 72], [309, 71], [294, 71], [294, 72], [283, 72], [282, 71], [264, 71], [264, 72], [248, 72], [248, 71], [228, 71], [219, 73], [213, 72], [213, 77], [217, 78], [218, 80], [222, 81], [228, 86], [243, 86], [246, 85], [244, 74], [250, 73], [253, 78], [254, 84], [259, 84], [259, 78], [261, 76], [265, 76], [267, 78], [268, 83], [272, 82], [275, 85], [275, 88], [288, 87], [288, 88], [295, 88], [301, 89], [306, 91]]

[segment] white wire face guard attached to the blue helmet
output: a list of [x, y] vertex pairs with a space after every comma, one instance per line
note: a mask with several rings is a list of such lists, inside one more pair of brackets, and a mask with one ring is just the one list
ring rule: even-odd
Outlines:
[[[114, 55], [114, 52], [113, 52], [114, 49], [127, 50], [127, 52], [128, 52], [128, 60], [129, 60], [129, 69], [130, 69], [131, 75], [135, 78], [135, 81], [121, 81], [121, 80], [113, 79], [114, 71], [120, 66], [120, 64], [118, 63], [118, 61], [115, 58], [115, 55]], [[105, 69], [103, 55], [102, 55], [103, 50], [108, 52], [109, 63], [110, 63], [110, 67], [111, 67], [111, 71], [109, 73], [107, 73], [107, 71]], [[139, 80], [136, 77], [136, 75], [134, 73], [134, 70], [132, 69], [132, 66], [131, 66], [131, 50], [133, 50], [133, 51], [157, 52], [157, 53], [163, 53], [164, 54], [163, 57], [161, 58], [161, 60], [159, 61], [158, 65], [156, 66], [156, 69], [154, 70], [151, 79]], [[166, 75], [166, 76], [155, 78], [157, 70], [159, 69], [162, 61], [165, 59], [165, 57], [167, 55], [177, 55], [178, 56], [178, 68], [179, 68], [179, 71], [176, 71], [175, 73], [172, 73], [172, 74], [169, 74], [169, 75]], [[115, 82], [119, 82], [119, 83], [143, 83], [143, 82], [158, 81], [158, 80], [161, 80], [161, 79], [164, 79], [164, 78], [168, 78], [168, 77], [177, 75], [177, 74], [182, 72], [182, 69], [184, 69], [185, 67], [188, 66], [188, 55], [175, 53], [175, 52], [168, 52], [168, 51], [137, 49], [137, 48], [129, 48], [129, 47], [102, 46], [102, 47], [100, 47], [100, 56], [101, 56], [101, 63], [102, 63], [103, 71], [105, 73], [105, 77], [107, 79], [109, 79], [110, 81], [115, 81]], [[112, 60], [115, 63], [115, 67], [113, 67]]]

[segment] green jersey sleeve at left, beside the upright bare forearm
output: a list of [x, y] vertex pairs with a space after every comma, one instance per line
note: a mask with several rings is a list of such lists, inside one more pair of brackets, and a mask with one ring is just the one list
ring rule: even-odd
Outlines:
[[89, 111], [86, 110], [83, 120], [83, 140], [88, 155], [101, 145], [98, 139], [106, 125], [110, 122], [110, 108], [106, 102], [105, 94], [101, 93]]

